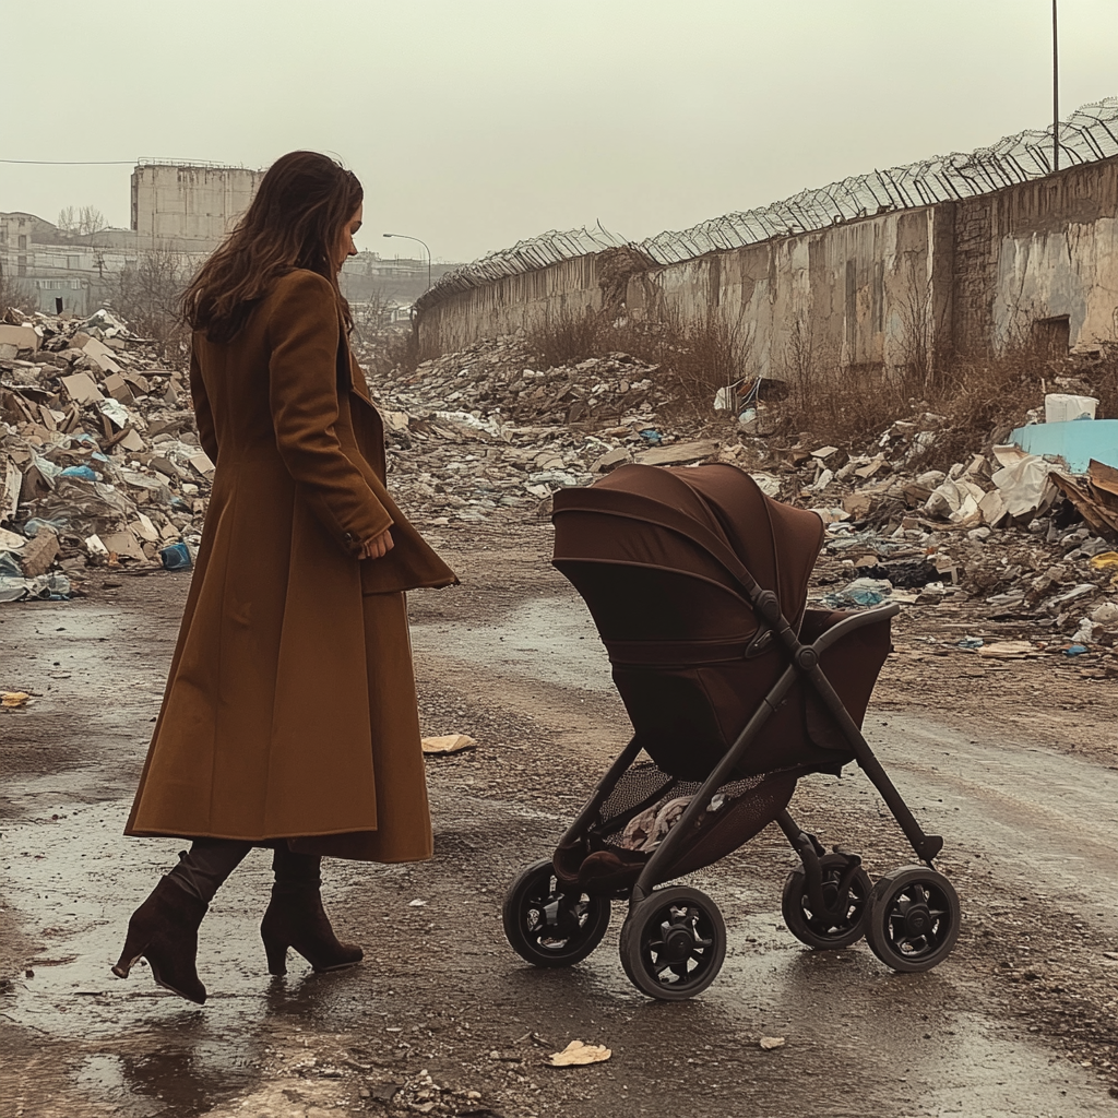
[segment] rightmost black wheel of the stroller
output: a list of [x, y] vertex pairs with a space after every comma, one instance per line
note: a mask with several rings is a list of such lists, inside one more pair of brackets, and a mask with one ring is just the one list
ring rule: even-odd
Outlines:
[[930, 970], [959, 935], [959, 898], [941, 873], [906, 865], [882, 878], [870, 899], [865, 938], [893, 970]]

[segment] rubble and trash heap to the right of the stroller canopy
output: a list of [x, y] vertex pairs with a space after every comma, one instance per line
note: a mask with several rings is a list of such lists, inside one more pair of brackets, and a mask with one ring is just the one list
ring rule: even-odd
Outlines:
[[821, 569], [837, 588], [822, 600], [969, 601], [989, 620], [1049, 631], [1046, 645], [1069, 655], [1118, 644], [1118, 470], [1091, 462], [1076, 477], [1012, 443], [947, 473], [919, 470], [945, 425], [929, 414], [898, 421], [853, 455], [747, 438], [773, 463], [773, 495], [827, 525], [833, 561]]

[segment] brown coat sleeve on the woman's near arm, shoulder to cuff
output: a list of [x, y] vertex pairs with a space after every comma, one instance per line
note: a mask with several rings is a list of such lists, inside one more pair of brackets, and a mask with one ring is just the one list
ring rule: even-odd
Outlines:
[[272, 420], [287, 471], [315, 515], [356, 555], [391, 527], [392, 518], [338, 440], [338, 310], [330, 284], [296, 273], [268, 320]]

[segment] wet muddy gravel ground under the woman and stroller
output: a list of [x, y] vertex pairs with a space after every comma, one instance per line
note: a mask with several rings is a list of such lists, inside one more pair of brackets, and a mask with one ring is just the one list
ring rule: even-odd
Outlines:
[[[181, 845], [121, 830], [189, 576], [107, 575], [82, 599], [0, 607], [0, 688], [37, 695], [0, 714], [0, 1116], [1118, 1115], [1114, 680], [931, 645], [1016, 634], [965, 606], [909, 608], [866, 732], [946, 836], [954, 954], [896, 975], [864, 942], [804, 948], [780, 918], [794, 858], [770, 828], [695, 877], [729, 928], [718, 980], [655, 1003], [622, 973], [620, 907], [570, 970], [504, 942], [506, 882], [550, 853], [627, 721], [546, 523], [432, 534], [464, 585], [411, 599], [424, 729], [480, 743], [428, 762], [436, 856], [330, 863], [328, 907], [366, 961], [314, 976], [295, 960], [273, 979], [267, 860], [252, 855], [202, 926], [202, 1008], [145, 968], [108, 972]], [[792, 809], [874, 875], [912, 861], [856, 771], [802, 781]], [[546, 1065], [575, 1039], [612, 1060]]]

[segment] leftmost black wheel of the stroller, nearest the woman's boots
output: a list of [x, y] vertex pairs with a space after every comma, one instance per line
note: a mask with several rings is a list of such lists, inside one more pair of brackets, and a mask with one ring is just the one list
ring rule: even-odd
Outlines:
[[522, 870], [501, 910], [512, 949], [537, 967], [569, 967], [585, 959], [609, 926], [609, 898], [568, 890], [551, 860]]

